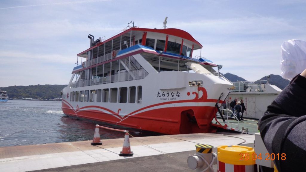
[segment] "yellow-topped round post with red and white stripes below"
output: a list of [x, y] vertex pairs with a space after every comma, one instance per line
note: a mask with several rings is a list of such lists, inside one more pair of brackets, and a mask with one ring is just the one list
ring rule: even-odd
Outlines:
[[219, 146], [218, 172], [257, 172], [255, 151], [247, 146]]

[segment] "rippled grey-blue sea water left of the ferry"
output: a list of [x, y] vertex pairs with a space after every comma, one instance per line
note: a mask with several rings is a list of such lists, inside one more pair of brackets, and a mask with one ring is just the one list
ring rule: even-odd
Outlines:
[[[92, 140], [97, 122], [69, 118], [63, 114], [61, 106], [62, 102], [51, 101], [9, 100], [0, 103], [0, 146]], [[135, 137], [160, 135], [128, 130]], [[124, 136], [122, 132], [107, 129], [100, 129], [100, 134], [101, 139]]]

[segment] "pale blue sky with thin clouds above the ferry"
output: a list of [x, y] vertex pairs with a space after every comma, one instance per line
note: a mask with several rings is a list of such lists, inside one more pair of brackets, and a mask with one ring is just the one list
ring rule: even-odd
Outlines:
[[[304, 0], [2, 0], [0, 87], [68, 84], [88, 34], [110, 38], [140, 28], [179, 28], [201, 55], [248, 81], [281, 74], [280, 46], [306, 40]], [[193, 52], [193, 57], [200, 50]]]

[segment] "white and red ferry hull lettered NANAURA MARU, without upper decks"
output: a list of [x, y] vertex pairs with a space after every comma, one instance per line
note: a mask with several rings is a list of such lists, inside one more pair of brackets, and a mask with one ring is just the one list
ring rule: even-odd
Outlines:
[[[180, 80], [173, 82], [175, 78]], [[201, 86], [189, 86], [189, 80], [203, 80]], [[154, 82], [159, 81], [159, 82]], [[162, 81], [162, 82], [160, 82]], [[136, 85], [135, 85], [136, 84]], [[142, 101], [138, 103], [70, 102], [69, 93], [78, 90], [142, 86]], [[185, 72], [161, 72], [143, 80], [125, 81], [80, 88], [63, 89], [64, 114], [141, 130], [165, 134], [213, 132], [211, 121], [217, 103], [220, 106], [232, 84], [221, 77]], [[173, 93], [173, 94], [172, 94]], [[67, 96], [66, 96], [67, 94]]]

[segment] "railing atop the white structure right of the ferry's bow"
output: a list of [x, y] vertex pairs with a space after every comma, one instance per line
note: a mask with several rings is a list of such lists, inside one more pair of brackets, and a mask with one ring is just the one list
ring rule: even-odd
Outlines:
[[265, 92], [267, 80], [233, 82], [235, 89], [232, 92]]

